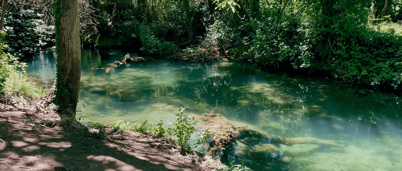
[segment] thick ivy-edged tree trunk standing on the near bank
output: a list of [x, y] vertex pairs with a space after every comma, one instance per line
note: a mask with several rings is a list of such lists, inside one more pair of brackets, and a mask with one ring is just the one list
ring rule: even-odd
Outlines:
[[[55, 103], [62, 121], [76, 123], [81, 77], [81, 48], [78, 28], [78, 0], [59, 0], [56, 9], [57, 82]], [[61, 17], [60, 17], [61, 15]], [[59, 17], [59, 18], [58, 18]], [[59, 20], [59, 21], [57, 21]]]

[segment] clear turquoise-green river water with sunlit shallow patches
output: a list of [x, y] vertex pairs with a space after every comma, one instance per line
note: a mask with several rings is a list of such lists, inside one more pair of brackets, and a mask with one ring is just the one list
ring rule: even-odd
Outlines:
[[[82, 51], [79, 100], [86, 108], [77, 113], [81, 122], [162, 120], [168, 125], [180, 107], [195, 116], [216, 108], [236, 126], [348, 143], [346, 147], [281, 145], [281, 154], [292, 157], [289, 164], [269, 165], [265, 161], [272, 154], [267, 153], [265, 161], [243, 160], [253, 170], [402, 170], [401, 97], [267, 73], [237, 62], [161, 60], [122, 65], [107, 73], [104, 68], [124, 55], [115, 50]], [[54, 79], [53, 53], [25, 62], [29, 75], [45, 83]]]

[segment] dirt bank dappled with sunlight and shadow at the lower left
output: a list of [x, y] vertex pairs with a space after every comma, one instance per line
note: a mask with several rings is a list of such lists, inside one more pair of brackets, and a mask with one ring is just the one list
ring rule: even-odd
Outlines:
[[1, 150], [0, 142], [0, 170], [211, 170], [202, 159], [181, 155], [166, 138], [111, 129], [107, 138], [94, 138], [71, 127], [38, 129], [26, 119], [24, 112], [0, 112], [0, 139], [6, 145]]

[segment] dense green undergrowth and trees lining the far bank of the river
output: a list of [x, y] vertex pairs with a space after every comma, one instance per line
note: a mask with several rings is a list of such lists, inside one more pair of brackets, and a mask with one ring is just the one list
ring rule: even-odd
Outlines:
[[[34, 24], [52, 25], [43, 17], [47, 11], [38, 8], [47, 1], [31, 1], [25, 11], [11, 10], [6, 22], [15, 36], [10, 40], [21, 40], [9, 42], [15, 54], [22, 53], [17, 49], [51, 45], [52, 33]], [[336, 80], [400, 89], [402, 3], [387, 2], [382, 16], [384, 2], [372, 0], [80, 1], [79, 8], [85, 7], [79, 18], [81, 42], [153, 57], [229, 56], [270, 70], [324, 73]], [[25, 17], [17, 21], [16, 15]], [[21, 39], [17, 31], [32, 38]]]

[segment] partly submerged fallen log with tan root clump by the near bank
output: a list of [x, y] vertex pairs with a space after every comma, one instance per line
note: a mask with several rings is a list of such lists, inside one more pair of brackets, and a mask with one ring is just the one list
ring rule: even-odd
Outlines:
[[[270, 135], [263, 131], [251, 130], [248, 129], [247, 126], [235, 127], [229, 120], [214, 111], [205, 113], [200, 117], [200, 120], [205, 123], [202, 129], [208, 129], [211, 134], [208, 153], [219, 158], [224, 156], [227, 158], [226, 160], [228, 160], [228, 156], [234, 155], [228, 153], [231, 153], [231, 151], [234, 153], [236, 148], [234, 144], [236, 142], [241, 143], [238, 146], [246, 146], [248, 149], [244, 150], [243, 148], [243, 153], [253, 159], [257, 159], [255, 156], [266, 157], [266, 153], [279, 154], [279, 144], [287, 146], [294, 144], [318, 144], [338, 147], [342, 147], [346, 144], [344, 141], [331, 141], [317, 138], [284, 138]], [[261, 158], [261, 160], [266, 160], [266, 158]], [[278, 155], [277, 161], [290, 162], [290, 157], [283, 156], [283, 154], [282, 156]]]

